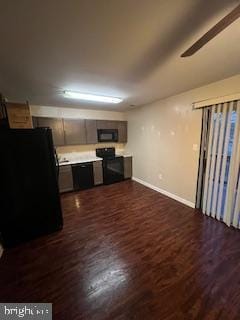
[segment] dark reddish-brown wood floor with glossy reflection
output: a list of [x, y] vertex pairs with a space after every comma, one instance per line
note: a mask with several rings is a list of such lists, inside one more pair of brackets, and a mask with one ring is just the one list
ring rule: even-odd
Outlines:
[[65, 227], [5, 251], [0, 302], [54, 319], [239, 319], [240, 232], [131, 181], [62, 196]]

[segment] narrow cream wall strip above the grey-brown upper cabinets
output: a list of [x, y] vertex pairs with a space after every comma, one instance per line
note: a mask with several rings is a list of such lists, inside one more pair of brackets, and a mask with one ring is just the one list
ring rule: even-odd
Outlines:
[[82, 118], [98, 120], [125, 120], [124, 112], [88, 110], [78, 108], [58, 108], [50, 106], [30, 106], [31, 115], [52, 118]]

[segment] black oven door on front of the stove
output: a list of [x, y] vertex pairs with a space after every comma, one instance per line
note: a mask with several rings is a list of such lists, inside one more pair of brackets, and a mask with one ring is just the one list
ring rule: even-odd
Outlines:
[[123, 157], [103, 161], [103, 182], [110, 184], [124, 180]]

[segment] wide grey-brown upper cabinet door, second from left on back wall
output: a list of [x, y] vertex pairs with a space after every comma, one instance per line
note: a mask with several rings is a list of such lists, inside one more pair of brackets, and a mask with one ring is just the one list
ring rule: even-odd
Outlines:
[[64, 119], [65, 144], [86, 144], [86, 120]]

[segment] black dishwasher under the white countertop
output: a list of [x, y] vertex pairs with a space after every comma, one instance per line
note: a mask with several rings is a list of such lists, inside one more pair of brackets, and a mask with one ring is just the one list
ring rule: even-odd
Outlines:
[[72, 175], [74, 190], [84, 190], [94, 186], [92, 162], [73, 164]]

